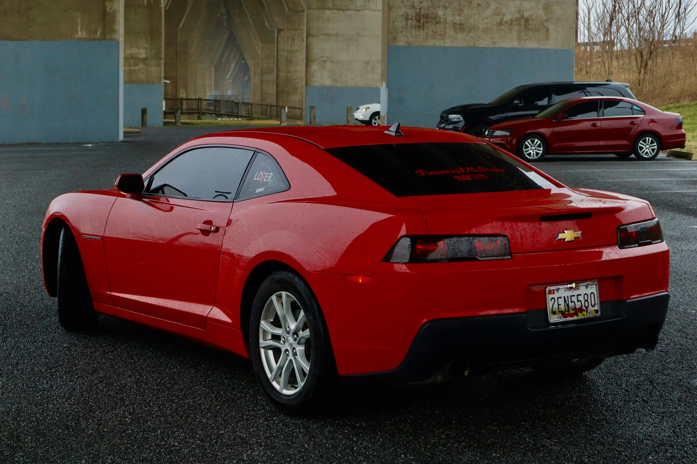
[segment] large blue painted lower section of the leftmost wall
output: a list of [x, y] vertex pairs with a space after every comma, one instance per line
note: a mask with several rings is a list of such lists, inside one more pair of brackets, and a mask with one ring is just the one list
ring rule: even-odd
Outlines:
[[116, 40], [0, 40], [0, 143], [118, 141]]

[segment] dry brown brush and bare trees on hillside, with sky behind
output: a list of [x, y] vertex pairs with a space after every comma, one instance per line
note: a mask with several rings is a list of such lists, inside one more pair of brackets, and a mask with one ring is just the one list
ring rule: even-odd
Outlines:
[[697, 102], [697, 0], [581, 0], [576, 80], [630, 84], [652, 105]]

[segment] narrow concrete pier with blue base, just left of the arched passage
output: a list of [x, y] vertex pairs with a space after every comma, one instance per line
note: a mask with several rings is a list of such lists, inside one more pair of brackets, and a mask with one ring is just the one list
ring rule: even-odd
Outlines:
[[140, 125], [141, 108], [148, 125], [162, 125], [164, 8], [162, 0], [124, 0], [123, 124]]

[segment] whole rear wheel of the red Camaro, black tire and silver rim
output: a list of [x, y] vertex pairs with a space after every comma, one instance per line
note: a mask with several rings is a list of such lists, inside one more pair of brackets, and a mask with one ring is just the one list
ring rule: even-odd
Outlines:
[[298, 275], [278, 271], [256, 292], [250, 317], [252, 366], [261, 388], [283, 413], [315, 408], [335, 374], [326, 323]]

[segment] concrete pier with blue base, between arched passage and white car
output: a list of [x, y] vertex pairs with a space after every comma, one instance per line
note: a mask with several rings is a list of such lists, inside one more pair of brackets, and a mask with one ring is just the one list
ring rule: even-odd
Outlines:
[[[364, 101], [380, 87], [382, 1], [307, 2], [306, 106], [317, 123], [345, 122], [346, 106]], [[340, 88], [340, 89], [335, 89]]]

